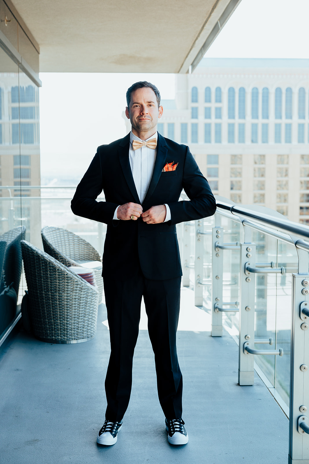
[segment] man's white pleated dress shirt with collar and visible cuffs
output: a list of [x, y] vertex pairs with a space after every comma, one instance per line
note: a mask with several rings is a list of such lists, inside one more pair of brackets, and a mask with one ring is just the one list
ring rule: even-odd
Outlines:
[[[151, 139], [158, 139], [158, 132], [156, 132], [154, 135], [151, 135], [151, 137], [149, 137], [146, 142]], [[157, 148], [148, 148], [146, 145], [144, 145], [141, 148], [133, 150], [133, 140], [138, 140], [139, 142], [143, 142], [143, 140], [141, 140], [137, 135], [132, 134], [132, 131], [130, 132], [129, 161], [134, 184], [137, 190], [137, 194], [139, 195], [139, 201], [140, 204], [142, 204], [151, 181], [153, 168], [156, 161]], [[117, 210], [119, 206], [117, 206], [115, 210], [113, 219], [118, 219]], [[167, 204], [165, 204], [165, 207], [166, 218], [164, 222], [167, 222], [170, 220], [170, 207]]]

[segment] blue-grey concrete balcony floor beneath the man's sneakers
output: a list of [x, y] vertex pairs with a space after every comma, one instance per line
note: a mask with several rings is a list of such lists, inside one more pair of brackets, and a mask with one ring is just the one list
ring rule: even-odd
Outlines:
[[20, 331], [0, 355], [1, 464], [284, 464], [288, 419], [264, 383], [237, 384], [226, 332], [177, 333], [188, 445], [169, 445], [148, 333], [140, 330], [129, 408], [116, 445], [96, 445], [109, 357], [105, 306], [90, 342], [55, 345]]

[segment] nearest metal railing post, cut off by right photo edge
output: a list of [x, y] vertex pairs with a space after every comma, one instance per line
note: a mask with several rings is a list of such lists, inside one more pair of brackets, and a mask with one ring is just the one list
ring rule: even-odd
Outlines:
[[296, 250], [299, 273], [292, 274], [289, 464], [309, 464], [308, 252]]

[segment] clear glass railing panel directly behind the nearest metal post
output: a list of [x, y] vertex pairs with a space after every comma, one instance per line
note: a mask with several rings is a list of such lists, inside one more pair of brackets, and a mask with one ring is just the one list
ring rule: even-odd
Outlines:
[[276, 348], [282, 348], [284, 354], [276, 356], [275, 387], [289, 406], [292, 272], [298, 272], [298, 257], [294, 245], [278, 241], [277, 265], [285, 268], [283, 275], [277, 274], [276, 305]]

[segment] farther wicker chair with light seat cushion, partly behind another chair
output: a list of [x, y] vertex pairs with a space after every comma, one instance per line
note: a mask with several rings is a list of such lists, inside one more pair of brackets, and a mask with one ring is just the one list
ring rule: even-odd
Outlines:
[[95, 274], [99, 303], [103, 295], [102, 261], [99, 253], [86, 240], [73, 232], [58, 227], [44, 227], [41, 231], [44, 251], [65, 266], [85, 266]]

